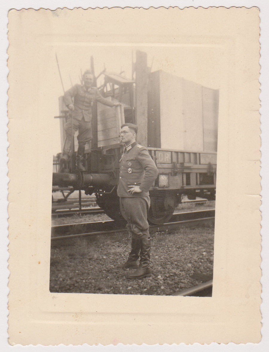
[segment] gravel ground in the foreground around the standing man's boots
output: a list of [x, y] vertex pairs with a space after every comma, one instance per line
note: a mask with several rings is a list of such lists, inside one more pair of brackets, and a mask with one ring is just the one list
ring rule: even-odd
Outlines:
[[[51, 247], [50, 292], [171, 295], [213, 278], [214, 226], [151, 235], [152, 276], [130, 280], [128, 234], [68, 240]], [[131, 269], [132, 270], [132, 269]]]

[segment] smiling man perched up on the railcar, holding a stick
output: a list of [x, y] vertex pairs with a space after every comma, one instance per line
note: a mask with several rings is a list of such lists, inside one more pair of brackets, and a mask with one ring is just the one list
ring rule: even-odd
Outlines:
[[[85, 71], [82, 76], [83, 86], [75, 84], [67, 90], [63, 96], [63, 100], [70, 109], [71, 114], [65, 126], [66, 139], [63, 146], [62, 158], [60, 160], [61, 168], [66, 168], [66, 161], [71, 152], [72, 138], [75, 131], [79, 130], [78, 134], [78, 151], [76, 158], [76, 166], [79, 171], [86, 171], [83, 166], [83, 157], [85, 144], [92, 139], [92, 105], [95, 100], [110, 107], [120, 105], [119, 102], [113, 103], [105, 99], [99, 93], [96, 87], [93, 87], [93, 75], [91, 71]], [[74, 98], [74, 102], [72, 100]]]

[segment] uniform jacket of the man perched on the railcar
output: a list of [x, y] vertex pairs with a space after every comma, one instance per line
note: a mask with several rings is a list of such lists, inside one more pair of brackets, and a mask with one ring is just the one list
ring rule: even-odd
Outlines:
[[[74, 103], [72, 98], [74, 98]], [[74, 119], [80, 121], [82, 120], [82, 117], [84, 117], [87, 122], [91, 122], [92, 120], [92, 104], [95, 100], [110, 107], [114, 106], [112, 101], [102, 97], [96, 87], [86, 89], [80, 84], [75, 84], [75, 86], [68, 89], [63, 96], [63, 100], [65, 101], [66, 106], [70, 104], [74, 105], [74, 111], [72, 111]]]

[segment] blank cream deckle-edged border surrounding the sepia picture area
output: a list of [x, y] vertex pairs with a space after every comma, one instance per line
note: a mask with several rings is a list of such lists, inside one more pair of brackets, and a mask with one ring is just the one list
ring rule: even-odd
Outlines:
[[[11, 10], [8, 20], [10, 344], [259, 342], [258, 8], [28, 9]], [[118, 48], [157, 47], [167, 52], [164, 68], [218, 86], [212, 297], [49, 292], [52, 155], [60, 140], [51, 62], [60, 47], [77, 50], [78, 61], [85, 50], [109, 48], [114, 62]], [[173, 56], [183, 49], [187, 67]]]

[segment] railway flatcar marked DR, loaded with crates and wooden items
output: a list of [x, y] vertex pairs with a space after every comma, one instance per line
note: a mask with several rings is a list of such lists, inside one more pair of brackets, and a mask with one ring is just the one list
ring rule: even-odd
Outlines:
[[[99, 207], [110, 218], [121, 220], [116, 189], [123, 146], [118, 136], [122, 124], [134, 123], [137, 142], [148, 147], [159, 170], [149, 190], [148, 212], [149, 222], [159, 225], [171, 218], [183, 194], [189, 199], [215, 199], [219, 91], [164, 71], [149, 72], [144, 52], [136, 52], [134, 67], [135, 80], [103, 73], [100, 93], [121, 105], [93, 104], [93, 139], [84, 157], [87, 171], [75, 168], [74, 137], [68, 172], [58, 167], [53, 186], [72, 186], [87, 195], [95, 194]], [[62, 97], [59, 107], [63, 146], [68, 109]]]

